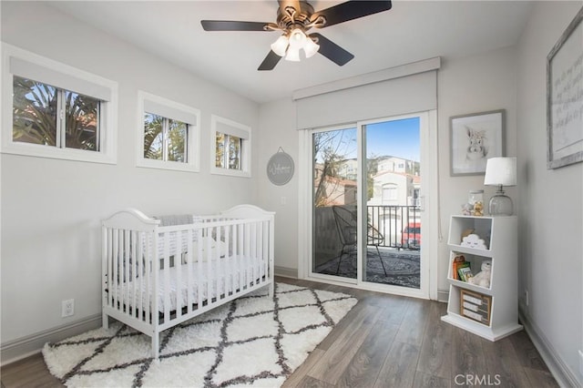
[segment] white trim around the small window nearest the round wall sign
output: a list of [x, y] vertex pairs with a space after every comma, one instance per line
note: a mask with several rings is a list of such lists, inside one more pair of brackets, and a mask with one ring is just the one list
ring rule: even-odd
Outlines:
[[[251, 178], [251, 127], [230, 120], [229, 118], [210, 115], [210, 128], [210, 173], [231, 177]], [[217, 167], [217, 132], [241, 139], [240, 169]]]

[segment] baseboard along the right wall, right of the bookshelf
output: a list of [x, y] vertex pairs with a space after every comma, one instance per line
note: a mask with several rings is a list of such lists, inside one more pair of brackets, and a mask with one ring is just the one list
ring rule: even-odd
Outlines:
[[568, 369], [567, 364], [561, 360], [543, 332], [530, 320], [522, 304], [518, 306], [518, 318], [524, 326], [530, 340], [540, 353], [540, 356], [547, 363], [548, 370], [553, 374], [557, 383], [561, 387], [581, 388], [581, 383], [578, 382], [578, 378]]

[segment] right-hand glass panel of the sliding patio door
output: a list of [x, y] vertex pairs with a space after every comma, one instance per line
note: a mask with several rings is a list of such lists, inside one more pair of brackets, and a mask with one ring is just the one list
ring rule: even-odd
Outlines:
[[420, 117], [361, 124], [362, 281], [421, 286]]

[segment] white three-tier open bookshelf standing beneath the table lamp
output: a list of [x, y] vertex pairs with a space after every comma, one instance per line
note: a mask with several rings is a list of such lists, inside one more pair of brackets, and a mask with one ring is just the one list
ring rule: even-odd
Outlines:
[[[485, 240], [486, 249], [462, 245], [465, 230], [474, 230]], [[522, 330], [518, 324], [517, 291], [517, 217], [452, 216], [449, 223], [447, 245], [450, 251], [449, 300], [447, 315], [442, 321], [468, 332], [496, 341]], [[492, 260], [492, 273], [488, 288], [454, 279], [455, 256], [464, 255], [476, 275], [483, 260]], [[465, 300], [462, 301], [462, 294]], [[465, 309], [462, 305], [469, 306]], [[469, 318], [473, 316], [475, 318]]]

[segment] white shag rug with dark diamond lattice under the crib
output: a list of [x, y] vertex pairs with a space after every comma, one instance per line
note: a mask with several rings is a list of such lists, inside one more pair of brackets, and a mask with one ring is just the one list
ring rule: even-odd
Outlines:
[[46, 343], [48, 369], [69, 387], [279, 387], [357, 300], [276, 283], [150, 338], [121, 323]]

